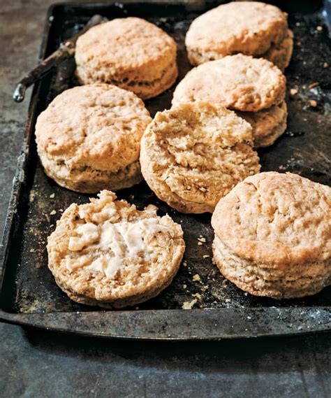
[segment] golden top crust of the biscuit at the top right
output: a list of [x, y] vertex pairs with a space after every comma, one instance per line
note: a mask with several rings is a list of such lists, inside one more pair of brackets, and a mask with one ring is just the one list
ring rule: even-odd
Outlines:
[[283, 40], [287, 29], [286, 13], [279, 8], [257, 1], [233, 1], [196, 18], [185, 42], [210, 60], [237, 52], [262, 55]]

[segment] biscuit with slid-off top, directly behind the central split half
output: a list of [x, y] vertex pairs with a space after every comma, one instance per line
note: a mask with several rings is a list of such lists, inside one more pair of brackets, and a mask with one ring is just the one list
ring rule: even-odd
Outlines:
[[[269, 101], [272, 98], [277, 103], [279, 98], [284, 98], [285, 83], [284, 78], [282, 78], [284, 75], [275, 66], [272, 66], [270, 62], [263, 59], [253, 59], [244, 55], [230, 56], [229, 59], [232, 63], [235, 61], [236, 71], [240, 71], [237, 76], [230, 74], [231, 68], [227, 66], [226, 58], [200, 65], [187, 73], [185, 78], [179, 83], [175, 90], [172, 104], [186, 103], [187, 101], [209, 101], [214, 105], [220, 104], [221, 106], [243, 109], [247, 108], [247, 106], [245, 107], [243, 104], [240, 104], [240, 106], [237, 106], [237, 104], [233, 105], [235, 101], [241, 100], [240, 92], [246, 92], [244, 95], [247, 95], [248, 102], [251, 99], [258, 102], [259, 97], [262, 97], [263, 104], [267, 105], [267, 108], [255, 112], [236, 111], [236, 113], [251, 124], [256, 148], [272, 145], [286, 130], [286, 102], [282, 99], [278, 104], [270, 106], [271, 101]], [[248, 69], [246, 66], [240, 65], [240, 59], [244, 59], [244, 63], [249, 65]], [[274, 71], [277, 72], [276, 76], [279, 76], [278, 83], [267, 86], [267, 81], [265, 80], [267, 71], [263, 67], [270, 69], [269, 73], [271, 76]], [[254, 71], [253, 74], [251, 70]], [[263, 70], [264, 72], [262, 72]], [[259, 71], [264, 74], [260, 82], [258, 82]], [[254, 80], [256, 81], [254, 82]], [[275, 89], [280, 90], [279, 94], [274, 95]], [[251, 91], [250, 94], [249, 91]], [[251, 99], [249, 95], [252, 96]]]

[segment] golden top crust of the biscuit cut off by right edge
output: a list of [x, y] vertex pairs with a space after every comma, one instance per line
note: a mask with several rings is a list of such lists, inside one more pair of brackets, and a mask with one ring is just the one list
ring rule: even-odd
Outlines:
[[256, 174], [212, 215], [216, 236], [236, 255], [286, 266], [331, 257], [331, 188], [293, 173]]

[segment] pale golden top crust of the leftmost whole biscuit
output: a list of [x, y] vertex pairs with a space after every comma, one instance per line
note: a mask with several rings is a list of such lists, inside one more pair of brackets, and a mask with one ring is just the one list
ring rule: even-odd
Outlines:
[[74, 87], [59, 94], [36, 123], [38, 152], [69, 169], [117, 172], [139, 157], [152, 119], [133, 92], [113, 85]]

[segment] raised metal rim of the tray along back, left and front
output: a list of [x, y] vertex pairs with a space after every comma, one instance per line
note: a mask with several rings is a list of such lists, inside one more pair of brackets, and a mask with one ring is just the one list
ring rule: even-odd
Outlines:
[[[54, 15], [54, 10], [60, 7], [106, 7], [112, 6], [116, 1], [78, 3], [60, 1], [52, 4], [46, 14], [45, 27], [41, 42], [39, 59], [45, 57], [47, 45], [50, 40], [50, 17]], [[184, 5], [188, 6], [183, 0], [123, 0], [121, 3], [152, 3], [160, 6]], [[213, 1], [193, 1], [189, 4], [191, 8], [195, 4], [203, 6]], [[34, 85], [29, 102], [27, 123], [24, 129], [24, 139], [20, 155], [17, 158], [15, 176], [8, 204], [6, 223], [3, 229], [3, 237], [0, 250], [0, 290], [2, 289], [4, 269], [10, 247], [10, 241], [15, 235], [15, 211], [19, 201], [22, 199], [22, 189], [24, 187], [24, 176], [29, 164], [29, 151], [31, 141], [34, 137], [34, 126], [32, 120], [36, 116], [36, 106], [38, 104], [38, 94], [41, 89], [42, 81]], [[323, 313], [325, 322], [320, 322], [312, 329], [309, 325], [310, 318], [316, 319], [316, 314]], [[294, 314], [294, 316], [293, 316]], [[257, 318], [253, 322], [243, 322], [250, 318]], [[301, 316], [301, 318], [300, 318]], [[302, 316], [306, 317], [302, 320]], [[149, 319], [150, 318], [150, 319]], [[200, 319], [201, 325], [206, 329], [196, 329], [194, 320]], [[229, 325], [226, 320], [232, 320]], [[270, 318], [272, 322], [267, 325]], [[151, 322], [152, 319], [152, 322]], [[193, 325], [191, 321], [193, 320]], [[262, 336], [284, 336], [308, 334], [316, 332], [331, 331], [331, 306], [305, 306], [305, 307], [267, 307], [267, 308], [200, 308], [191, 310], [126, 310], [126, 311], [82, 311], [82, 312], [49, 312], [49, 313], [10, 313], [0, 308], [0, 321], [15, 325], [36, 327], [38, 329], [54, 330], [57, 332], [69, 332], [88, 336], [107, 337], [112, 339], [140, 339], [140, 340], [221, 340], [221, 339], [241, 339]], [[68, 322], [73, 325], [68, 327]], [[186, 322], [186, 330], [180, 323]], [[198, 323], [200, 323], [198, 322]], [[258, 327], [266, 323], [268, 327], [259, 330]], [[124, 329], [123, 328], [124, 324]], [[90, 327], [88, 327], [88, 325]], [[91, 327], [93, 325], [93, 327]], [[125, 325], [130, 325], [126, 327]], [[214, 325], [214, 326], [213, 326]], [[252, 325], [255, 325], [251, 327]], [[266, 326], [265, 325], [265, 326]], [[191, 330], [188, 333], [187, 327]], [[175, 327], [175, 332], [170, 332], [170, 327]], [[231, 329], [235, 328], [235, 332]], [[185, 328], [184, 328], [185, 329]], [[120, 330], [120, 332], [119, 332]]]

